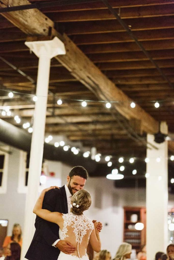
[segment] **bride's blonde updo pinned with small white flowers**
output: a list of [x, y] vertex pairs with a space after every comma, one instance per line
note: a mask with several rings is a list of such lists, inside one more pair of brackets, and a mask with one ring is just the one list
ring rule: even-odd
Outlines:
[[[79, 206], [79, 207], [78, 207]], [[82, 215], [83, 211], [91, 206], [91, 195], [87, 190], [79, 190], [74, 193], [71, 199], [71, 212], [76, 215]]]

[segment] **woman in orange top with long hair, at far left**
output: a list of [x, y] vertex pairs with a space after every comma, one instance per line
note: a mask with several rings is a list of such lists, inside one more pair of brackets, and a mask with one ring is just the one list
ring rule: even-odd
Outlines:
[[22, 247], [21, 235], [22, 235], [21, 226], [19, 224], [14, 224], [12, 236], [5, 237], [3, 247], [8, 246], [8, 244], [11, 242], [17, 242]]

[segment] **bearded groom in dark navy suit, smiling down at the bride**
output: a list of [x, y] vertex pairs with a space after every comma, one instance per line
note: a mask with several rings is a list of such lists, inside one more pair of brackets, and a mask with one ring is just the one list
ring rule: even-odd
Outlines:
[[[71, 197], [84, 188], [88, 173], [82, 166], [73, 167], [67, 176], [67, 184], [60, 189], [49, 190], [44, 197], [43, 209], [52, 212], [69, 213]], [[29, 260], [57, 260], [60, 251], [72, 254], [76, 248], [59, 239], [59, 226], [40, 217], [35, 220], [36, 231], [25, 258]], [[102, 224], [99, 222], [98, 230]]]

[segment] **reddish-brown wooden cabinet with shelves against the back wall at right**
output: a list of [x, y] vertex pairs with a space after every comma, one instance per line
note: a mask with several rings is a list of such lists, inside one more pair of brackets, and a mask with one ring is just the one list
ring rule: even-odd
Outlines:
[[[137, 219], [132, 219], [132, 215], [137, 215]], [[136, 216], [134, 216], [136, 217]], [[136, 221], [136, 222], [134, 222]], [[143, 230], [136, 230], [135, 224], [144, 224]], [[146, 244], [146, 208], [145, 207], [124, 207], [124, 234], [123, 242], [132, 245], [136, 252], [141, 251], [142, 245]]]

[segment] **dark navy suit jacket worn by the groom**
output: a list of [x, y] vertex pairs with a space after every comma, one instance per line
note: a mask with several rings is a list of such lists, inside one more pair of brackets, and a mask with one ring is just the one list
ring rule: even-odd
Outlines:
[[[49, 190], [44, 197], [43, 209], [68, 213], [65, 187]], [[40, 217], [35, 220], [36, 231], [25, 258], [29, 260], [57, 260], [59, 249], [52, 244], [59, 239], [59, 226]]]

